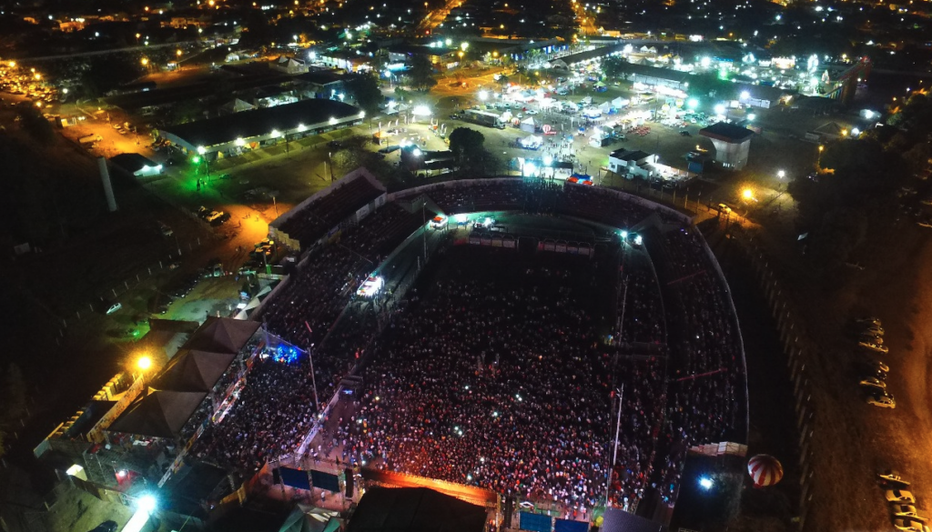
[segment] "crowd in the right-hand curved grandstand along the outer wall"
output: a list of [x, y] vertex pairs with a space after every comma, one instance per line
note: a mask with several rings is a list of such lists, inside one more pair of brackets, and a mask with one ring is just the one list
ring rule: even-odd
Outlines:
[[746, 412], [744, 355], [727, 288], [695, 228], [665, 232], [658, 275], [667, 286], [671, 384], [662, 447], [655, 467], [664, 498], [678, 489], [685, 451], [702, 443], [742, 441]]

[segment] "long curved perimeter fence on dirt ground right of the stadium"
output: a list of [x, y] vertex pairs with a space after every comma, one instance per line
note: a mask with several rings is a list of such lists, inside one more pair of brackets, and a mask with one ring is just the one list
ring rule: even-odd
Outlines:
[[755, 277], [761, 283], [761, 290], [776, 321], [781, 347], [784, 354], [787, 355], [787, 366], [793, 385], [796, 427], [799, 430], [797, 444], [800, 452], [799, 466], [801, 468], [800, 485], [802, 491], [799, 501], [800, 515], [797, 524], [799, 529], [803, 530], [806, 515], [815, 496], [813, 489], [815, 476], [813, 470], [814, 452], [811, 443], [813, 442], [816, 412], [811, 401], [812, 384], [807, 369], [808, 365], [812, 363], [812, 355], [801, 340], [804, 334], [802, 326], [798, 325], [798, 323], [802, 323], [802, 321], [797, 318], [796, 311], [788, 303], [788, 297], [784, 293], [782, 283], [774, 275], [773, 266], [771, 266], [766, 253], [751, 235], [737, 238], [735, 241], [741, 244], [741, 247], [747, 252], [747, 257], [754, 267]]

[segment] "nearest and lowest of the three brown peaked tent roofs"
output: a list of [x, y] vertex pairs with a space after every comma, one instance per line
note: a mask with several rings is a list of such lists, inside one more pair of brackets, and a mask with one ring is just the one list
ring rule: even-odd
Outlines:
[[122, 416], [117, 417], [109, 430], [173, 438], [185, 427], [206, 396], [202, 391], [153, 391], [142, 400], [132, 403]]

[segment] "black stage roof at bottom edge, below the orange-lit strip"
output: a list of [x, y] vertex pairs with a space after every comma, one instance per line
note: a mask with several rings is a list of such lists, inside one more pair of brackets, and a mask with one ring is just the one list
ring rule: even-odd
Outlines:
[[482, 532], [486, 509], [426, 487], [373, 487], [346, 532]]

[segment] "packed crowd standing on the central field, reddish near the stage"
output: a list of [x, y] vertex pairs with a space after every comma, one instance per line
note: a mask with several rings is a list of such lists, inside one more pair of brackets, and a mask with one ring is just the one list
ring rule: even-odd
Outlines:
[[[592, 308], [614, 272], [603, 263], [601, 277], [580, 275], [598, 267], [580, 258], [471, 264], [470, 253], [486, 254], [448, 252], [447, 275], [422, 283], [391, 324], [360, 409], [335, 434], [343, 458], [591, 509], [615, 422], [611, 355]], [[619, 493], [647, 482], [657, 379], [647, 364], [617, 373], [628, 390]]]

